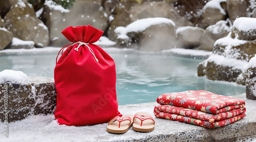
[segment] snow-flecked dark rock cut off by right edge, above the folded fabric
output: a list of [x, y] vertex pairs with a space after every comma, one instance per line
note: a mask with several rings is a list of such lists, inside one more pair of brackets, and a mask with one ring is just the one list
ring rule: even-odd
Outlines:
[[246, 70], [246, 98], [256, 100], [256, 68], [250, 67]]

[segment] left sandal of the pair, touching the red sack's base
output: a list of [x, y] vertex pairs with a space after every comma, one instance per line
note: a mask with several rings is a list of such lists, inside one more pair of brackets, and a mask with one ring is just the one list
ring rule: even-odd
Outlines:
[[116, 116], [109, 122], [106, 131], [110, 133], [125, 133], [133, 125], [132, 118], [132, 115]]

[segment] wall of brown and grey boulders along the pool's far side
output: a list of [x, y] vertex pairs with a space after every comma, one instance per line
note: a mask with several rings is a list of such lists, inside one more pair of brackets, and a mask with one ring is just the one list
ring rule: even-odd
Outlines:
[[[0, 1], [0, 50], [62, 47], [69, 43], [60, 33], [63, 29], [90, 24], [104, 31], [104, 36], [115, 41], [119, 48], [159, 51], [177, 47], [211, 51], [217, 39], [227, 36], [236, 18], [256, 17], [254, 0], [77, 0], [73, 6], [66, 7], [70, 9], [53, 1], [46, 0], [41, 5], [35, 2]], [[118, 39], [115, 33], [118, 26], [125, 27], [148, 17], [164, 17], [173, 20], [175, 26], [154, 25], [140, 33], [128, 34], [125, 40]], [[32, 42], [12, 45], [14, 37]], [[159, 37], [163, 44], [154, 46]]]

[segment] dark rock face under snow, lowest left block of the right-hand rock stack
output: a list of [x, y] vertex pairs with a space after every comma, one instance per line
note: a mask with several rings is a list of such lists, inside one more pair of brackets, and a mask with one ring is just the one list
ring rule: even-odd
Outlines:
[[242, 71], [240, 69], [217, 65], [214, 62], [208, 62], [206, 67], [206, 77], [210, 80], [236, 82], [237, 77], [241, 73]]

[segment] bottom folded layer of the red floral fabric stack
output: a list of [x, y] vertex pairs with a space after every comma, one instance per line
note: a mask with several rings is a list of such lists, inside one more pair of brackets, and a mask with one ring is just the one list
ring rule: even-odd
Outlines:
[[[157, 118], [162, 118], [162, 119], [168, 119], [168, 120], [173, 120], [173, 121], [179, 121], [179, 122], [185, 122], [189, 124], [194, 124], [202, 127], [207, 127], [207, 128], [217, 128], [217, 127], [222, 127], [226, 126], [229, 124], [232, 124], [242, 118], [245, 117], [245, 113], [241, 113], [240, 115], [237, 115], [236, 117], [231, 117], [227, 118], [224, 120], [220, 121], [215, 121], [214, 119], [209, 119], [209, 121], [201, 120], [196, 118], [190, 118], [190, 117], [185, 117], [182, 115], [177, 115], [173, 113], [167, 113], [167, 112], [162, 112], [157, 109], [158, 107], [156, 106], [154, 109], [154, 114]], [[187, 113], [189, 110], [185, 111]], [[206, 115], [203, 116], [203, 118], [207, 117]]]

